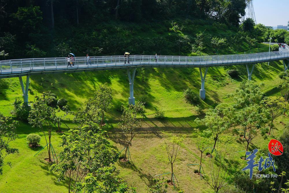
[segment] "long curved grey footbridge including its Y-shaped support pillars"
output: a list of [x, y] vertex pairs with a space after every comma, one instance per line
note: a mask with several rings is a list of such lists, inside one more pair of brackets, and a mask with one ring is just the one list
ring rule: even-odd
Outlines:
[[[274, 44], [274, 43], [271, 43]], [[199, 68], [201, 77], [200, 97], [205, 99], [205, 78], [208, 67], [246, 65], [248, 80], [256, 63], [264, 63], [275, 60], [283, 60], [284, 70], [286, 71], [289, 64], [289, 47], [285, 45], [276, 52], [262, 52], [256, 54], [237, 54], [237, 55], [214, 55], [214, 56], [142, 56], [133, 55], [129, 57], [129, 63], [123, 56], [96, 56], [74, 58], [74, 66], [70, 67], [66, 58], [30, 58], [17, 60], [0, 61], [0, 78], [19, 77], [23, 100], [28, 104], [28, 86], [29, 76], [35, 74], [53, 74], [53, 73], [71, 73], [81, 71], [98, 71], [127, 69], [129, 77], [129, 104], [135, 104], [134, 98], [134, 77], [136, 68], [142, 67], [176, 67], [176, 68]], [[202, 68], [205, 72], [202, 73]], [[132, 74], [130, 69], [133, 70]], [[24, 87], [22, 76], [27, 76], [26, 87]]]

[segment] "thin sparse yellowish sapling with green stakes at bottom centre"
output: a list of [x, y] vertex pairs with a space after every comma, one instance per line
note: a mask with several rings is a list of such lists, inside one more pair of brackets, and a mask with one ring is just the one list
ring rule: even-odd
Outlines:
[[[167, 143], [164, 140], [166, 152], [168, 154], [168, 160], [171, 163], [171, 183], [173, 183], [173, 177], [175, 177], [174, 170], [173, 170], [173, 163], [175, 162], [179, 150], [181, 149], [181, 143], [184, 141], [186, 135], [176, 136], [171, 134], [171, 141]], [[177, 180], [177, 179], [176, 179]]]

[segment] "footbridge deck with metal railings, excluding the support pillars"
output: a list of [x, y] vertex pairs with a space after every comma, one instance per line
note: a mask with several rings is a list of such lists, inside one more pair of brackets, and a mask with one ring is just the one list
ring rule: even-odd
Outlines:
[[[272, 43], [273, 44], [273, 43]], [[36, 71], [65, 70], [65, 69], [89, 69], [135, 65], [190, 65], [194, 66], [226, 66], [247, 63], [260, 63], [271, 60], [281, 60], [289, 58], [289, 47], [287, 52], [262, 52], [255, 54], [235, 54], [235, 55], [214, 55], [214, 56], [143, 56], [133, 55], [127, 59], [123, 56], [95, 56], [87, 60], [86, 57], [75, 57], [72, 61], [74, 66], [68, 66], [66, 58], [29, 58], [0, 61], [0, 75], [16, 74]], [[91, 63], [91, 65], [90, 65]], [[125, 64], [126, 63], [126, 64]]]

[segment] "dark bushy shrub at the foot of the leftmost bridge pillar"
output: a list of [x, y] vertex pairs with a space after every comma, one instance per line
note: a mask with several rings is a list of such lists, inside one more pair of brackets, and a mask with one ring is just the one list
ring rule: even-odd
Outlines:
[[25, 105], [22, 100], [15, 99], [13, 103], [14, 109], [11, 112], [18, 120], [27, 121], [31, 106]]

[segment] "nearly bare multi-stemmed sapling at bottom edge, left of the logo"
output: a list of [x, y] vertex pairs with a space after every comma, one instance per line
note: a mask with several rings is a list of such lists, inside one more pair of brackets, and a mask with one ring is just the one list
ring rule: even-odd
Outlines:
[[[216, 149], [216, 156], [209, 159], [210, 175], [205, 178], [215, 193], [229, 185], [230, 169], [235, 163], [232, 150], [227, 152], [227, 147], [224, 150], [218, 150], [218, 145]], [[226, 157], [227, 155], [228, 157]]]

